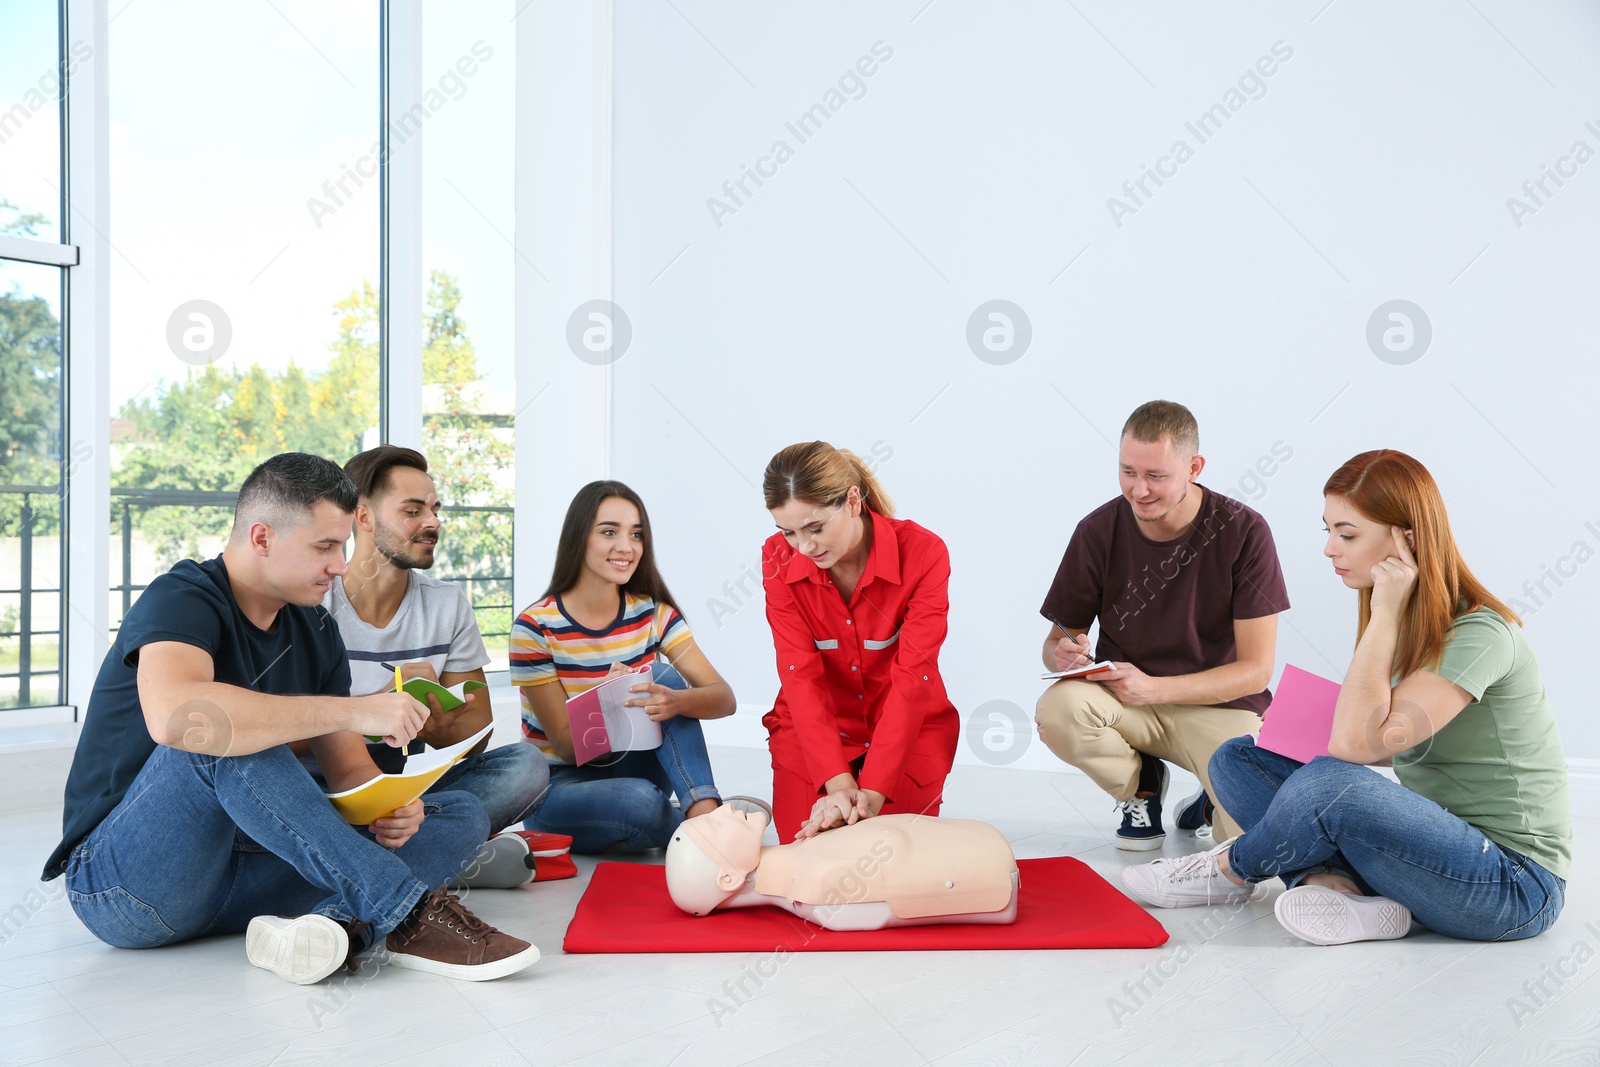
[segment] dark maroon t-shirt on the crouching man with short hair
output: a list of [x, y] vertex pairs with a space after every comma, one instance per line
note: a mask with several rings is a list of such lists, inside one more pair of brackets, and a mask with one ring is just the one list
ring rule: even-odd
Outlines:
[[[1189, 533], [1150, 541], [1128, 501], [1090, 512], [1067, 542], [1040, 614], [1062, 625], [1099, 619], [1096, 659], [1120, 659], [1152, 677], [1197, 673], [1238, 657], [1234, 619], [1290, 606], [1272, 530], [1259, 514], [1202, 485]], [[1262, 689], [1226, 701], [1258, 715]]]

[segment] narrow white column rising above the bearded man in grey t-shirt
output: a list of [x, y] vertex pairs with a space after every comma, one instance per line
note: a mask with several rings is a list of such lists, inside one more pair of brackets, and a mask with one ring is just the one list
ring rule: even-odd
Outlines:
[[384, 0], [384, 440], [422, 448], [422, 3]]

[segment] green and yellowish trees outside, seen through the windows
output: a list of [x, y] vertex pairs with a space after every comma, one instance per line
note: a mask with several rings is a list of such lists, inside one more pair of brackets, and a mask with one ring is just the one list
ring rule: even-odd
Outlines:
[[[0, 211], [16, 211], [0, 200]], [[29, 235], [38, 216], [0, 221], [0, 234]], [[446, 506], [509, 507], [509, 419], [482, 414], [482, 382], [461, 286], [445, 272], [429, 278], [424, 309], [424, 451]], [[128, 435], [115, 443], [112, 485], [128, 490], [232, 493], [262, 459], [309, 451], [344, 462], [378, 427], [379, 301], [363, 283], [333, 307], [338, 322], [320, 370], [291, 360], [282, 371], [205, 366], [128, 405]], [[61, 461], [61, 325], [50, 304], [13, 290], [0, 294], [0, 483], [53, 486]], [[32, 498], [32, 531], [59, 531], [59, 498]], [[122, 530], [114, 496], [112, 536]], [[155, 547], [155, 569], [213, 550], [232, 507], [134, 504], [133, 530]], [[21, 496], [0, 494], [0, 537], [21, 533]], [[462, 582], [485, 633], [510, 624], [510, 512], [446, 515], [435, 574]], [[138, 565], [136, 565], [138, 566]], [[133, 574], [146, 582], [154, 574]], [[490, 577], [504, 581], [486, 581]], [[491, 646], [504, 641], [490, 638]]]

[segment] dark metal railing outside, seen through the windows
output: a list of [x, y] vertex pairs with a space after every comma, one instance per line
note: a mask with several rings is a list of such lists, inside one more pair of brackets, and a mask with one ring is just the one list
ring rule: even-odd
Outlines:
[[[61, 491], [58, 486], [38, 486], [38, 485], [0, 485], [0, 499], [5, 496], [21, 496], [22, 510], [21, 523], [18, 530], [18, 555], [21, 561], [21, 579], [16, 589], [0, 589], [0, 603], [6, 595], [16, 595], [19, 598], [18, 606], [18, 622], [14, 630], [0, 630], [0, 648], [10, 638], [19, 640], [19, 659], [16, 670], [0, 670], [0, 681], [6, 678], [18, 680], [18, 693], [14, 707], [30, 707], [35, 704], [43, 704], [38, 697], [37, 681], [42, 678], [54, 678], [54, 696], [50, 704], [61, 704], [66, 701], [62, 693], [62, 632], [58, 624], [54, 630], [38, 630], [34, 629], [34, 597], [42, 593], [62, 595], [64, 581], [58, 579], [53, 587], [35, 585], [34, 584], [34, 528], [38, 522], [38, 515], [34, 509], [34, 498], [50, 496], [51, 499], [61, 499]], [[122, 625], [122, 619], [126, 617], [128, 609], [133, 606], [138, 593], [149, 589], [149, 582], [134, 581], [134, 533], [138, 523], [134, 522], [136, 512], [146, 512], [155, 507], [187, 507], [187, 509], [227, 509], [222, 517], [218, 518], [214, 530], [200, 530], [198, 536], [226, 536], [229, 526], [232, 525], [234, 502], [237, 493], [222, 491], [202, 491], [202, 490], [112, 490], [110, 491], [110, 507], [112, 507], [112, 530], [114, 536], [118, 539], [120, 547], [120, 579], [110, 587], [110, 592], [120, 597], [120, 608], [110, 632], [115, 633]], [[510, 515], [510, 507], [472, 507], [472, 506], [453, 506], [442, 509], [446, 515], [458, 517], [480, 517], [480, 515]], [[59, 520], [59, 512], [58, 512]], [[59, 528], [59, 522], [58, 522]], [[190, 530], [190, 533], [195, 533]], [[514, 617], [512, 609], [512, 579], [510, 574], [494, 573], [499, 566], [507, 571], [510, 563], [510, 544], [509, 530], [507, 544], [502, 550], [490, 553], [491, 558], [486, 560], [490, 573], [462, 573], [462, 574], [438, 574], [442, 581], [454, 582], [462, 587], [467, 593], [467, 601], [472, 603], [472, 613], [478, 619], [478, 632], [482, 633], [485, 645], [490, 648], [498, 648], [504, 645], [504, 640], [510, 637], [510, 619]], [[445, 549], [445, 557], [448, 560], [450, 553], [450, 537], [442, 542]], [[66, 557], [62, 555], [58, 574], [64, 576]], [[485, 603], [478, 598], [483, 597]], [[58, 601], [59, 608], [56, 617], [64, 617], [66, 605]], [[501, 622], [504, 621], [504, 622]], [[51, 669], [40, 669], [40, 664], [34, 662], [34, 638], [54, 637], [56, 638], [56, 661]], [[6, 707], [8, 701], [5, 694], [0, 693], [0, 709]]]

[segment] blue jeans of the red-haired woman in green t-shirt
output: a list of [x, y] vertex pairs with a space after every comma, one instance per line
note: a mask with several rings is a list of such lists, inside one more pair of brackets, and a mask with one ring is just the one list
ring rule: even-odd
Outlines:
[[1467, 941], [1533, 937], [1562, 913], [1565, 880], [1371, 768], [1299, 763], [1234, 737], [1211, 757], [1211, 784], [1245, 829], [1227, 865], [1246, 881], [1344, 873]]

